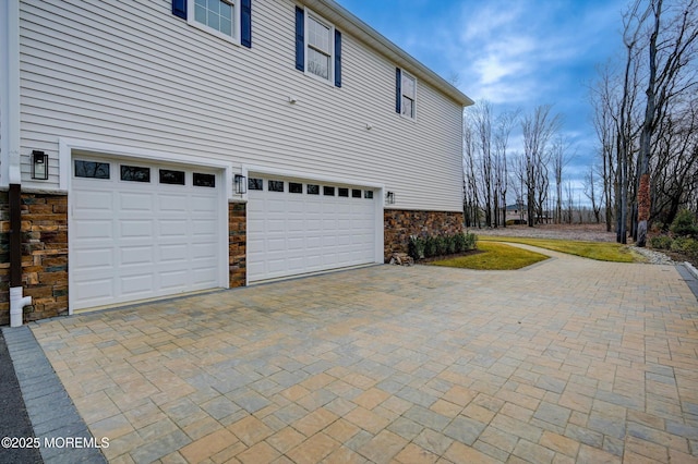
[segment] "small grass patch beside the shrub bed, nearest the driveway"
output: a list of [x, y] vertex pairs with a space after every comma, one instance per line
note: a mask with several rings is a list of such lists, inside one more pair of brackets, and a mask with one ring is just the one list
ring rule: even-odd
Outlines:
[[503, 243], [478, 242], [478, 249], [482, 253], [433, 261], [430, 265], [478, 270], [514, 270], [547, 259], [547, 256], [540, 253]]

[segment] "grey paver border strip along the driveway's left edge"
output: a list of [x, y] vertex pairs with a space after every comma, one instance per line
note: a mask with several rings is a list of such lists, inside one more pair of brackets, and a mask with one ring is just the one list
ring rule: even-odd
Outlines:
[[[27, 326], [3, 328], [41, 459], [50, 463], [106, 463], [98, 448], [70, 445], [67, 439], [92, 440], [87, 425]], [[100, 437], [95, 441], [99, 443]], [[52, 444], [52, 445], [50, 445]]]

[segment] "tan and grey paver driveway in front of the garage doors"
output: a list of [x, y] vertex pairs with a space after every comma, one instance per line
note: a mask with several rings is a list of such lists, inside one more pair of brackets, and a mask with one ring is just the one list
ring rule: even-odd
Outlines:
[[[545, 252], [549, 253], [549, 252]], [[674, 267], [378, 266], [33, 332], [112, 462], [697, 462]]]

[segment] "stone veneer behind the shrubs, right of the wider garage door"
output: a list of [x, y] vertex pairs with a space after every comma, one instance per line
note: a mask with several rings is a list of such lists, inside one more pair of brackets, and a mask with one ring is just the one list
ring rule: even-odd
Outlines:
[[407, 253], [410, 235], [453, 235], [464, 232], [462, 212], [386, 209], [384, 217], [384, 258]]

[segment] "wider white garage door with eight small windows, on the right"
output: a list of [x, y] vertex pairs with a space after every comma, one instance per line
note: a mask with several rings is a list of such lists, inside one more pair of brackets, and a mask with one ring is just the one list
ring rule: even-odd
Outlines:
[[248, 197], [250, 282], [376, 261], [373, 190], [251, 175]]

